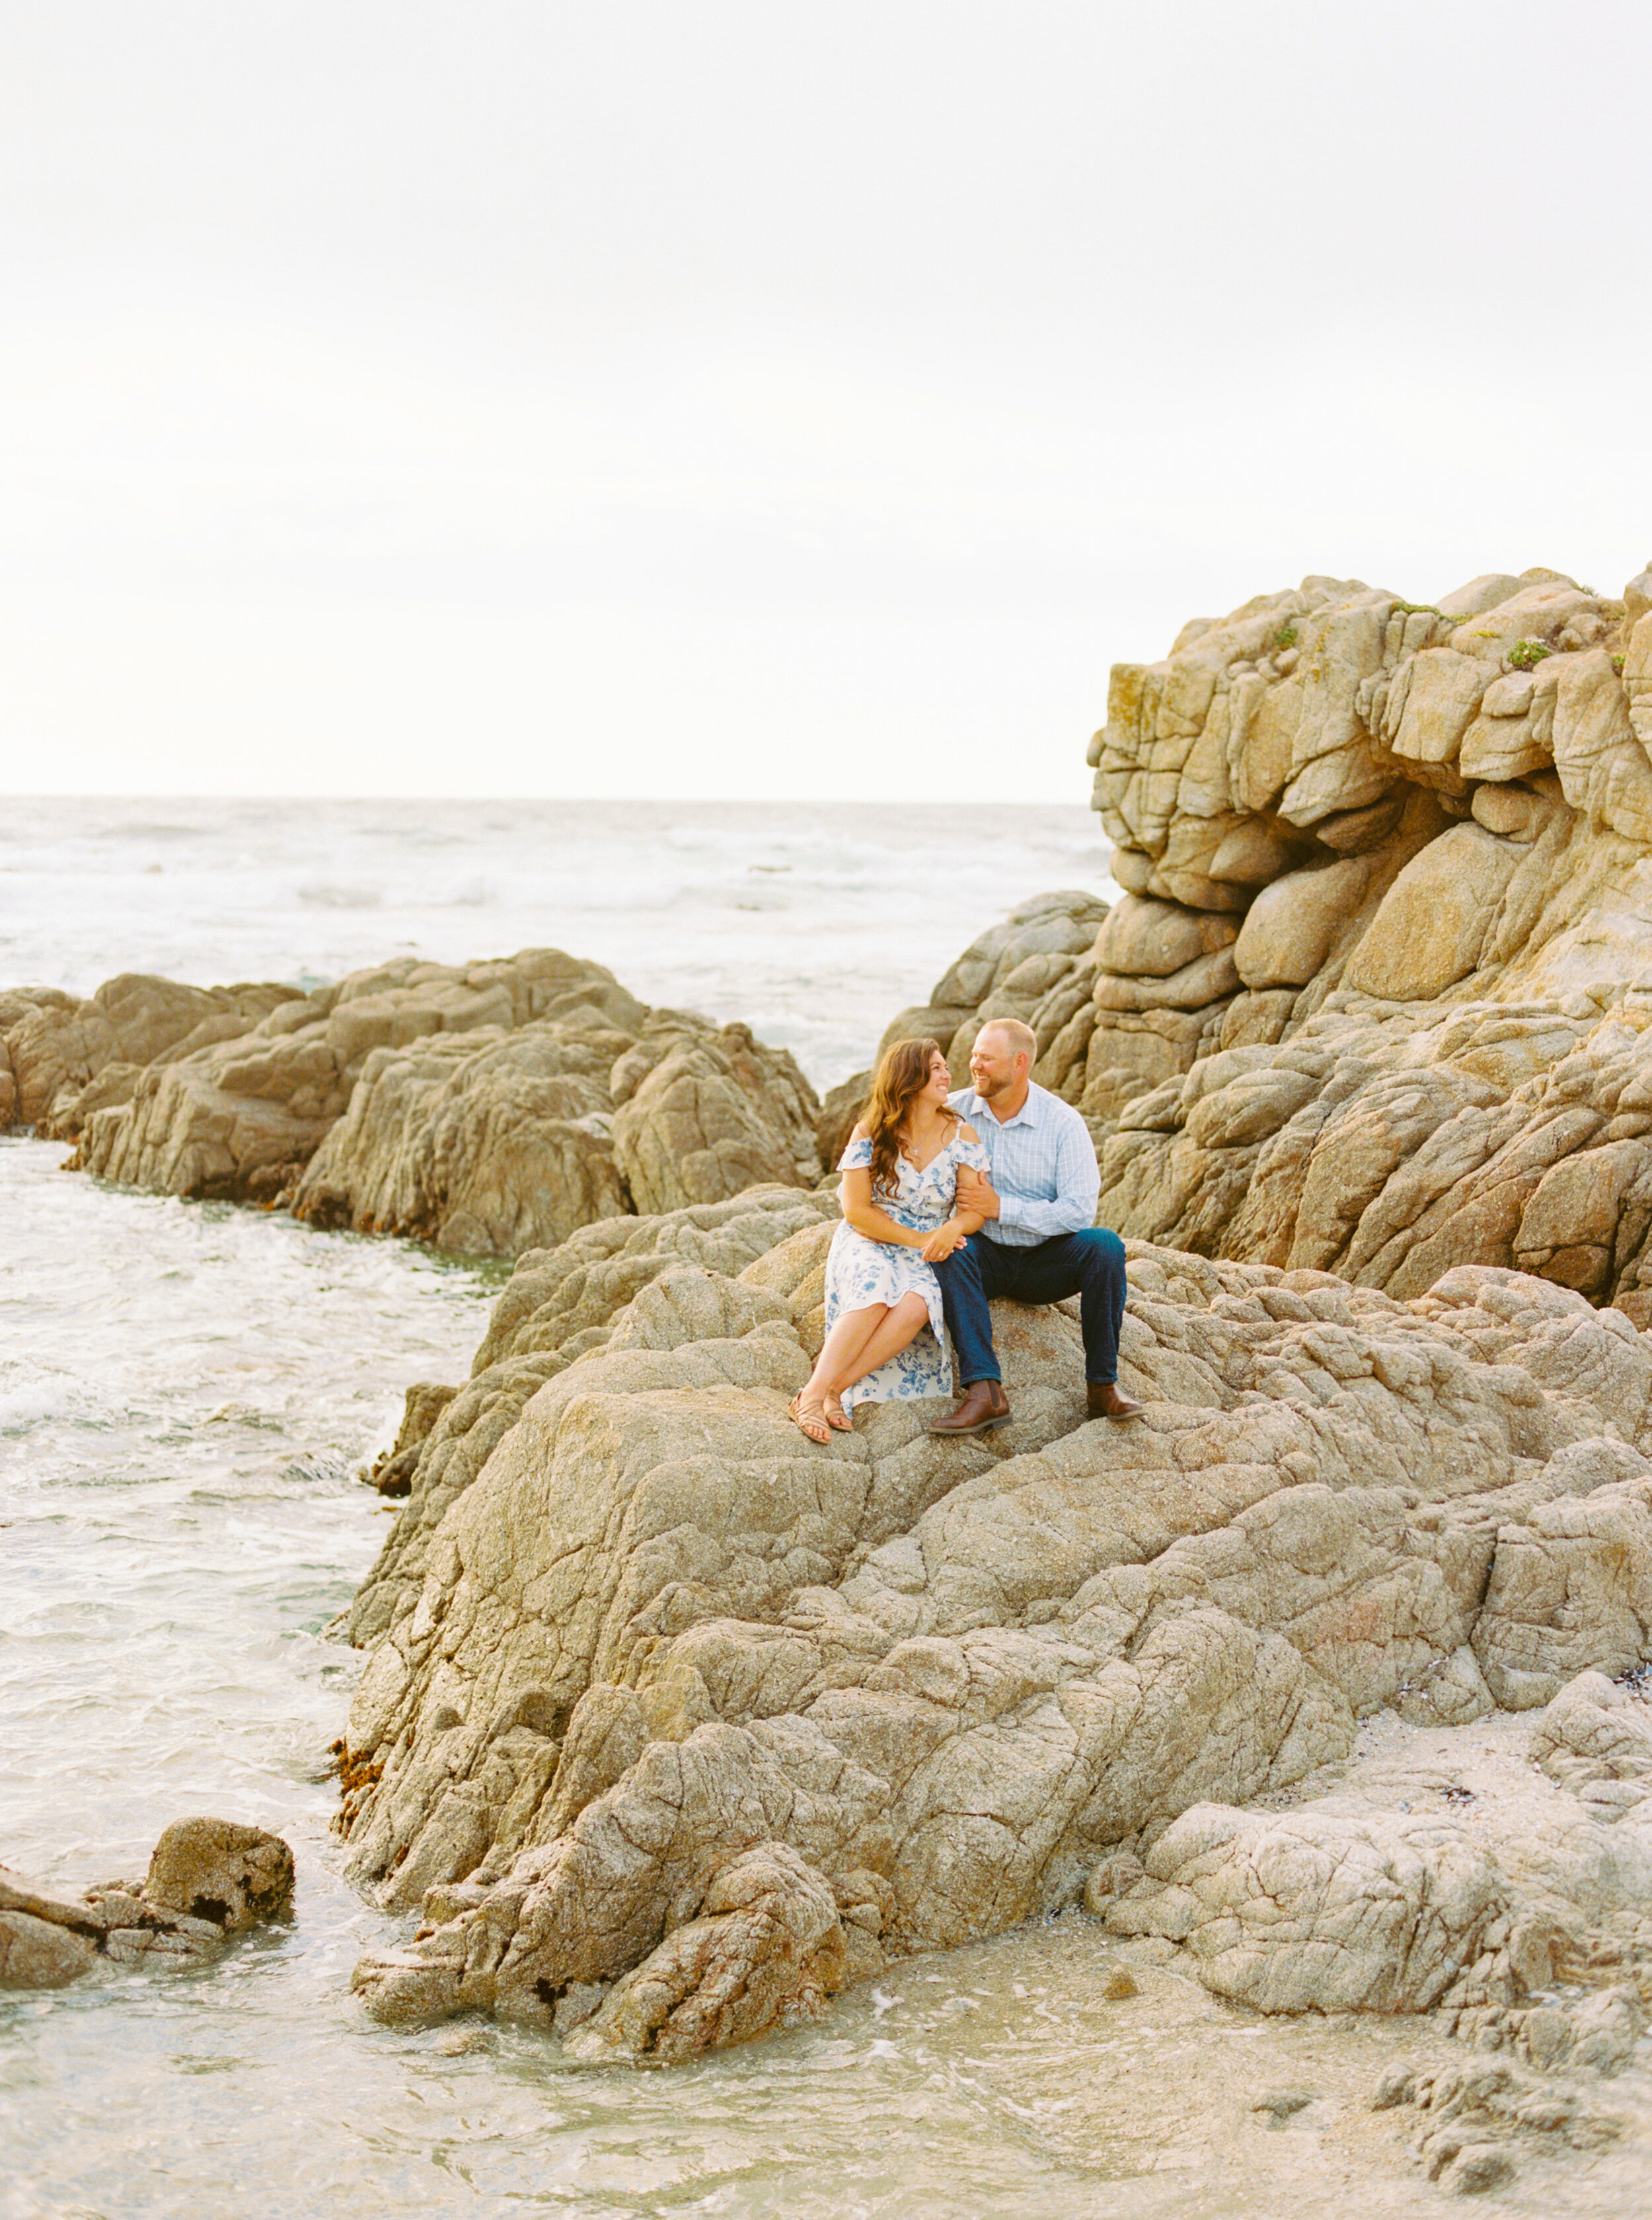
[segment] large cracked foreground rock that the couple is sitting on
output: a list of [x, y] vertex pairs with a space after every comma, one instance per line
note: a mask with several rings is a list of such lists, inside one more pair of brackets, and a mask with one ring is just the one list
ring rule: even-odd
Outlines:
[[[1252, 1816], [1201, 1809], [1288, 1792], [1383, 1707], [1541, 1707], [1652, 1638], [1652, 1345], [1616, 1312], [1497, 1270], [1397, 1303], [1137, 1245], [1144, 1423], [1088, 1421], [1075, 1321], [1010, 1305], [1010, 1427], [941, 1443], [873, 1405], [815, 1450], [784, 1405], [828, 1234], [653, 1270], [600, 1348], [508, 1396], [457, 1487], [433, 1459], [415, 1485], [342, 1752], [353, 1869], [426, 1918], [360, 1967], [375, 2014], [686, 2056], [1121, 1858], [1159, 1891], [1217, 1849], [1250, 1871]], [[564, 1314], [553, 1294], [537, 1332]], [[535, 1316], [524, 1285], [473, 1388]], [[1432, 1938], [1339, 1998], [1528, 1994], [1494, 1876], [1295, 1825], [1332, 1907], [1334, 1871], [1410, 1858], [1390, 1925]], [[1308, 1880], [1281, 1887], [1312, 1940]]]

